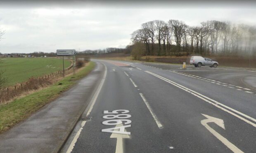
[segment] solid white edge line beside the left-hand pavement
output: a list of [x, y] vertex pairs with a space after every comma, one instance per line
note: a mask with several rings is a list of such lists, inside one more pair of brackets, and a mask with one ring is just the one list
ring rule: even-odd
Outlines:
[[[102, 64], [103, 64], [103, 63], [102, 63]], [[103, 64], [103, 65], [104, 65], [104, 64]], [[104, 65], [104, 66], [105, 66], [105, 72], [104, 72], [103, 78], [102, 78], [102, 80], [101, 80], [101, 82], [100, 82], [100, 85], [98, 86], [98, 88], [97, 88], [95, 94], [94, 94], [93, 97], [92, 97], [92, 101], [90, 102], [91, 105], [90, 105], [89, 110], [87, 111], [86, 116], [88, 116], [88, 115], [90, 114], [90, 112], [92, 111], [93, 105], [95, 104], [95, 102], [96, 102], [96, 100], [97, 100], [97, 97], [99, 96], [100, 90], [101, 90], [101, 88], [102, 88], [102, 86], [103, 86], [103, 84], [104, 84], [104, 81], [105, 81], [105, 79], [106, 79], [107, 67], [106, 67], [106, 65]], [[76, 145], [76, 141], [77, 141], [77, 139], [79, 138], [79, 135], [81, 134], [81, 131], [83, 130], [83, 127], [84, 127], [85, 123], [86, 123], [86, 121], [82, 121], [80, 129], [78, 130], [78, 132], [76, 132], [76, 136], [73, 138], [73, 140], [72, 140], [71, 144], [69, 145], [69, 148], [68, 148], [68, 150], [66, 151], [66, 153], [71, 153], [71, 151], [73, 150], [74, 146]]]

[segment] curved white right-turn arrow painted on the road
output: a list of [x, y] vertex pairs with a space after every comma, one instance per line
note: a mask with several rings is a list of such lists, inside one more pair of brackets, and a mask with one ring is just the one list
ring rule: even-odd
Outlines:
[[225, 137], [223, 137], [222, 135], [220, 135], [218, 132], [216, 132], [215, 130], [213, 130], [207, 123], [213, 122], [216, 123], [218, 126], [220, 126], [221, 128], [223, 128], [225, 130], [225, 125], [224, 125], [224, 121], [222, 119], [219, 118], [215, 118], [209, 115], [205, 115], [202, 114], [203, 116], [205, 116], [207, 119], [204, 119], [201, 121], [201, 124], [204, 125], [206, 127], [207, 130], [209, 130], [216, 138], [218, 138], [223, 144], [225, 144], [228, 148], [230, 148], [231, 151], [233, 151], [234, 153], [243, 153], [243, 151], [241, 151], [239, 148], [237, 148], [234, 144], [232, 144], [230, 141], [228, 141]]

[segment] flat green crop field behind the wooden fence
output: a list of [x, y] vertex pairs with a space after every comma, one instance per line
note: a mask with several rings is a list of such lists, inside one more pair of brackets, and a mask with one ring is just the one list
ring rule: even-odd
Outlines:
[[[12, 86], [28, 80], [31, 76], [42, 76], [63, 69], [61, 58], [0, 58], [0, 70], [7, 78], [6, 86]], [[64, 60], [69, 67], [71, 61]]]

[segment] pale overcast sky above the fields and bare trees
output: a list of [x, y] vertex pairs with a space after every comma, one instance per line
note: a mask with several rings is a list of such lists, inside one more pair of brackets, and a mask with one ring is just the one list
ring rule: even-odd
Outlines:
[[[83, 1], [83, 0], [82, 0]], [[219, 20], [256, 26], [256, 3], [216, 1], [12, 1], [0, 5], [0, 53], [124, 48], [142, 23], [178, 19], [189, 26]]]

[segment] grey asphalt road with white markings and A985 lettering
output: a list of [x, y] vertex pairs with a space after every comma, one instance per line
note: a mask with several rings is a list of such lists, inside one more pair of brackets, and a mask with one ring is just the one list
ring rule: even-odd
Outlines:
[[256, 152], [255, 71], [95, 61], [104, 76], [62, 152]]

